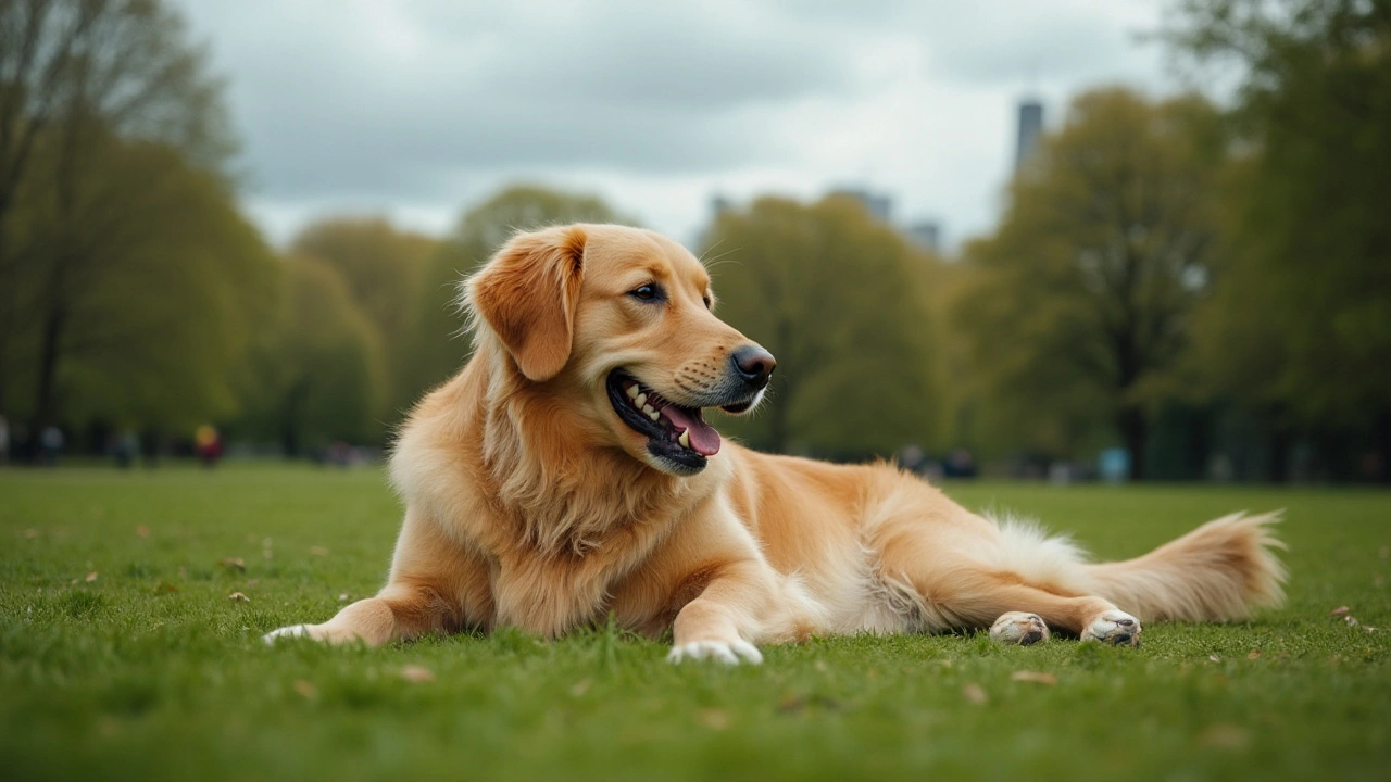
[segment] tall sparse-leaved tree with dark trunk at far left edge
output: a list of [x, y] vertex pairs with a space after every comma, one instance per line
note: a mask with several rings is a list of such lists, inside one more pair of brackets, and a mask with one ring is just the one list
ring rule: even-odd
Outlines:
[[181, 19], [156, 0], [0, 4], [0, 409], [11, 405], [15, 358], [26, 351], [18, 334], [35, 323], [35, 370], [25, 373], [32, 419], [60, 417], [64, 351], [82, 317], [77, 301], [111, 259], [81, 216], [103, 209], [93, 198], [110, 199], [114, 213], [129, 195], [93, 171], [110, 166], [113, 149], [139, 143], [175, 150], [210, 175], [231, 152], [221, 83]]

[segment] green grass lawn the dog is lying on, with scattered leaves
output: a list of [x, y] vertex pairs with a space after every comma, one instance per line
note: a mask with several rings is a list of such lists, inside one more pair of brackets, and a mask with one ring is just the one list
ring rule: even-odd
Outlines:
[[[378, 470], [0, 470], [0, 778], [1391, 775], [1391, 494], [949, 493], [1104, 558], [1285, 508], [1289, 601], [1244, 625], [1149, 625], [1139, 650], [849, 637], [672, 667], [602, 629], [267, 648], [266, 630], [380, 586], [398, 508]], [[1341, 605], [1359, 625], [1330, 616]]]

